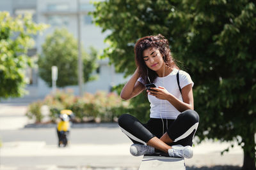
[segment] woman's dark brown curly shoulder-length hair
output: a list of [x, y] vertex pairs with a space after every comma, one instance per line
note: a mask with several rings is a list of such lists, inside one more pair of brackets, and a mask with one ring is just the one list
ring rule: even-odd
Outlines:
[[[163, 59], [167, 67], [175, 67], [179, 69], [172, 57], [168, 40], [164, 38], [164, 36], [158, 34], [157, 36], [145, 36], [140, 38], [134, 46], [134, 53], [136, 65], [139, 67], [138, 72], [144, 83], [154, 83], [157, 78], [156, 71], [149, 69], [143, 59], [143, 51], [147, 50], [148, 48], [158, 49], [159, 52], [163, 55]], [[150, 79], [150, 82], [148, 81], [148, 78]]]

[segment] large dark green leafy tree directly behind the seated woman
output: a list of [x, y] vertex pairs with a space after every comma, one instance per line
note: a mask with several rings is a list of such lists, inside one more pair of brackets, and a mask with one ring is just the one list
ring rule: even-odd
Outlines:
[[244, 151], [243, 169], [255, 169], [255, 4], [104, 1], [95, 3], [93, 12], [95, 23], [111, 31], [104, 56], [127, 75], [135, 70], [133, 48], [138, 38], [159, 33], [168, 38], [173, 55], [195, 81], [195, 110], [200, 115], [196, 135], [201, 141], [236, 140]]

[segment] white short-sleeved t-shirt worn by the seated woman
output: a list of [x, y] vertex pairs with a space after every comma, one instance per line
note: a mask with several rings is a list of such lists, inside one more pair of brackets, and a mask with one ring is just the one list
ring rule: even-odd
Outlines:
[[[177, 83], [177, 73], [178, 69], [173, 69], [173, 71], [167, 76], [157, 77], [154, 84], [156, 87], [164, 87], [168, 92], [170, 92], [170, 94], [177, 97], [180, 101], [183, 101]], [[138, 81], [143, 83], [142, 78], [139, 78]], [[179, 81], [181, 89], [191, 83], [192, 87], [194, 85], [189, 74], [182, 70], [179, 71]], [[155, 96], [149, 94], [148, 101], [150, 102], [150, 118], [176, 119], [180, 114], [180, 111], [178, 111], [169, 101], [157, 99]]]

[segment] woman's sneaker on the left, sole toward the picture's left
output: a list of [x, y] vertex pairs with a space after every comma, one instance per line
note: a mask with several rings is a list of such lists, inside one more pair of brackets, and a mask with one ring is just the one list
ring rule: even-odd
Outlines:
[[132, 144], [130, 147], [130, 153], [136, 157], [155, 153], [155, 148], [143, 144]]

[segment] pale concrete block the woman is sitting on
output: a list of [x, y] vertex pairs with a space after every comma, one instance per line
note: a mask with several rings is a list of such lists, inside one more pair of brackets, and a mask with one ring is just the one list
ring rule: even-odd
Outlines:
[[184, 159], [166, 155], [144, 155], [139, 170], [186, 170]]

